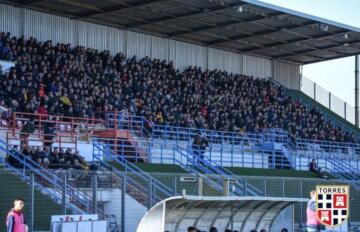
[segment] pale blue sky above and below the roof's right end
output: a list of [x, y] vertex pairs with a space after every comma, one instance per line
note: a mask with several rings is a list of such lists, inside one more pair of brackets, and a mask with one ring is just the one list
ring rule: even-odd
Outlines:
[[[360, 28], [360, 0], [261, 0]], [[302, 73], [333, 95], [355, 105], [355, 57], [304, 65]]]

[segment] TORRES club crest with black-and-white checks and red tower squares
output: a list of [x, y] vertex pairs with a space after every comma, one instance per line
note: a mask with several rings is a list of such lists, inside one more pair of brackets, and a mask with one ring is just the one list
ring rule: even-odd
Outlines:
[[348, 185], [316, 186], [316, 215], [325, 226], [337, 226], [345, 222], [349, 216]]

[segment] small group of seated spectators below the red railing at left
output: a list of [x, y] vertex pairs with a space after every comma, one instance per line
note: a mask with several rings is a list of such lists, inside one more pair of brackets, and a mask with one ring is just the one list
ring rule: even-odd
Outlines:
[[[64, 169], [64, 170], [88, 170], [88, 164], [84, 158], [79, 154], [79, 151], [71, 148], [57, 148], [52, 149], [48, 147], [29, 147], [25, 146], [19, 149], [18, 146], [12, 148], [15, 151], [20, 151], [26, 157], [36, 162], [38, 165], [48, 169]], [[8, 157], [8, 162], [14, 167], [19, 167], [20, 163], [13, 157]]]

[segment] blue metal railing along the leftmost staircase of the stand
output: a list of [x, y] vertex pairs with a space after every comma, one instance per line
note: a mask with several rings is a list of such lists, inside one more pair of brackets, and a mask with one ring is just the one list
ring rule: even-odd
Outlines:
[[[21, 154], [18, 151], [7, 149], [7, 144], [1, 140], [0, 150], [5, 152], [8, 157], [12, 157], [14, 160], [17, 161], [21, 168], [14, 167], [6, 162], [5, 167], [16, 172], [19, 176], [23, 178], [23, 180], [29, 180], [29, 171], [36, 174], [36, 176], [41, 178], [41, 183], [43, 184], [41, 185], [40, 182], [38, 182], [37, 187], [39, 187], [42, 191], [47, 192], [49, 196], [52, 196], [52, 198], [57, 202], [62, 199], [61, 196], [63, 195], [64, 185], [66, 185], [65, 197], [67, 199], [67, 206], [70, 209], [74, 210], [74, 212], [89, 212], [89, 199], [84, 196], [82, 192], [76, 190], [68, 184], [65, 184], [63, 179], [59, 178], [49, 170], [43, 168], [42, 166], [31, 160], [29, 157]], [[48, 188], [50, 188], [50, 190]]]

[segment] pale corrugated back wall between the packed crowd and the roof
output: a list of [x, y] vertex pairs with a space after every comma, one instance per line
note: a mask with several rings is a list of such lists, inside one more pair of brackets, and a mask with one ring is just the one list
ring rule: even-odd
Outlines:
[[[0, 31], [14, 36], [33, 36], [39, 41], [70, 43], [112, 54], [149, 56], [172, 60], [182, 69], [197, 65], [203, 69], [219, 69], [254, 77], [274, 77], [286, 87], [300, 89], [299, 66], [269, 59], [236, 54], [209, 47], [179, 42], [157, 36], [120, 30], [94, 23], [45, 14], [0, 4]], [[276, 63], [276, 72], [274, 72]]]

